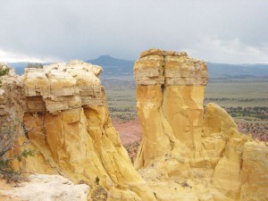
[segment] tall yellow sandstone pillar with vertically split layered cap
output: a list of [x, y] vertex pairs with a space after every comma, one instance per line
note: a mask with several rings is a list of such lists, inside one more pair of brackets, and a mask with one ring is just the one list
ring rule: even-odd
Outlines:
[[138, 117], [144, 133], [136, 167], [147, 166], [151, 159], [178, 144], [188, 154], [189, 150], [201, 150], [208, 80], [205, 62], [183, 52], [150, 49], [140, 54], [134, 75]]

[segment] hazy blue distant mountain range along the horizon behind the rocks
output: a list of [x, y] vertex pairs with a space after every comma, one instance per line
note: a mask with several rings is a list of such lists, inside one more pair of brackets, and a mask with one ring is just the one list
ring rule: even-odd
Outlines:
[[[100, 65], [104, 68], [101, 79], [125, 79], [133, 80], [134, 61], [127, 61], [113, 58], [110, 55], [86, 61]], [[49, 63], [43, 63], [49, 64]], [[9, 63], [18, 74], [22, 74], [28, 63]], [[268, 63], [266, 64], [227, 64], [227, 63], [207, 63], [209, 77], [217, 79], [245, 79], [264, 78], [268, 79]]]

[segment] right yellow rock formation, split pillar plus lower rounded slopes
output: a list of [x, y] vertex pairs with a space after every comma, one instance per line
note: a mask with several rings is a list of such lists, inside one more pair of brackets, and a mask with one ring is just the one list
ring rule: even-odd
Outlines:
[[261, 175], [268, 148], [239, 133], [220, 106], [206, 105], [204, 116], [204, 62], [150, 49], [140, 54], [134, 75], [143, 130], [135, 167], [159, 200], [267, 199]]

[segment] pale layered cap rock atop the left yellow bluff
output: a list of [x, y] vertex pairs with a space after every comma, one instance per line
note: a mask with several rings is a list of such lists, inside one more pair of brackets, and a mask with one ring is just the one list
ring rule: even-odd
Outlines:
[[60, 113], [81, 106], [105, 105], [105, 88], [97, 76], [102, 68], [71, 61], [27, 69], [23, 83], [26, 112]]

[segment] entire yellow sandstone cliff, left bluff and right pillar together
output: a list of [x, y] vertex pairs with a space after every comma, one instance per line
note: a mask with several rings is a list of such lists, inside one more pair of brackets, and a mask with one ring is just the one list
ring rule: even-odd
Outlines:
[[23, 121], [14, 127], [26, 131], [18, 143], [30, 140], [23, 148], [35, 150], [13, 167], [88, 184], [94, 201], [268, 199], [268, 147], [239, 133], [219, 105], [204, 110], [204, 62], [159, 49], [140, 54], [134, 75], [143, 140], [135, 168], [111, 123], [101, 71], [71, 61], [3, 79], [1, 126], [13, 116]]

